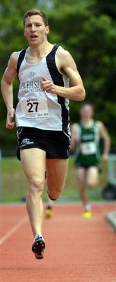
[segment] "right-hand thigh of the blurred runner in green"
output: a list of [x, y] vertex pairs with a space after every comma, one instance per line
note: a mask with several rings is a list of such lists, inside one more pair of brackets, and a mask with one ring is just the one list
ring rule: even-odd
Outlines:
[[99, 182], [99, 171], [97, 166], [90, 166], [86, 171], [87, 185], [94, 187]]

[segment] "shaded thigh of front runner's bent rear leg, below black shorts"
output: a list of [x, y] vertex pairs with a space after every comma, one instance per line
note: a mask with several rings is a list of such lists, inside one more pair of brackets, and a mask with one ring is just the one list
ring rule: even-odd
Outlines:
[[52, 189], [63, 189], [67, 175], [68, 159], [47, 159], [47, 187]]

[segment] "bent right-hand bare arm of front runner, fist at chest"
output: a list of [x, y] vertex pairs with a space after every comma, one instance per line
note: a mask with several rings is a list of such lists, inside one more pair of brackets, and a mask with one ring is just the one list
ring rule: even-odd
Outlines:
[[85, 99], [85, 89], [72, 56], [69, 52], [61, 49], [56, 62], [60, 71], [69, 78], [70, 87], [56, 86], [52, 81], [44, 78], [42, 89], [52, 94], [66, 97], [69, 100], [83, 101]]

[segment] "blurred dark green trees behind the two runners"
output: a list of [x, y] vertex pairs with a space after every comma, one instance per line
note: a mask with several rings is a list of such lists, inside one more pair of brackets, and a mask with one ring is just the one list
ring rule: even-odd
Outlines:
[[[49, 17], [49, 41], [67, 49], [76, 62], [86, 90], [94, 104], [95, 118], [105, 123], [116, 144], [116, 5], [108, 0], [1, 0], [0, 78], [10, 54], [26, 47], [22, 18], [26, 10], [40, 8]], [[18, 81], [14, 84], [17, 104]], [[71, 123], [79, 118], [81, 102], [70, 102]], [[0, 98], [0, 147], [14, 148], [15, 130], [5, 129], [6, 107]]]

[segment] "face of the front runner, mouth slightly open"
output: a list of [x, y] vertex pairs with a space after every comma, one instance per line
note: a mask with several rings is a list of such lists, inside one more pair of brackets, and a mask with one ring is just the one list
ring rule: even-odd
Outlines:
[[24, 36], [26, 36], [29, 45], [40, 45], [47, 38], [48, 33], [49, 26], [44, 25], [44, 21], [40, 15], [32, 15], [26, 18]]

